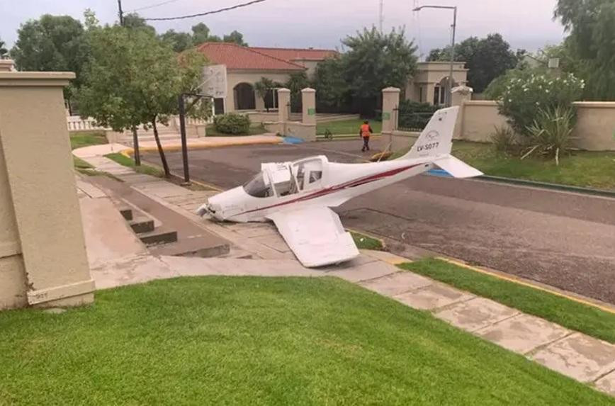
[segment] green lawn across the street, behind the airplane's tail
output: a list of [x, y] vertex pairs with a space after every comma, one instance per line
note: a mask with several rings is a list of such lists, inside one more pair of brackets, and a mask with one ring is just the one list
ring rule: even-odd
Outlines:
[[[407, 150], [396, 152], [390, 159]], [[521, 160], [497, 154], [490, 144], [453, 141], [453, 155], [486, 175], [615, 191], [615, 152], [572, 152], [561, 157], [558, 166], [553, 159]]]

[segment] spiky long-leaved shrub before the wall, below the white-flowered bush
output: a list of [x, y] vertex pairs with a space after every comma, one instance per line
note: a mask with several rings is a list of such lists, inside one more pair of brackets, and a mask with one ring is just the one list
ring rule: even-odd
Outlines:
[[545, 157], [555, 158], [555, 164], [560, 164], [560, 154], [565, 152], [570, 141], [570, 133], [575, 126], [575, 111], [573, 108], [555, 107], [540, 110], [534, 124], [529, 128], [527, 152], [521, 159], [538, 153]]

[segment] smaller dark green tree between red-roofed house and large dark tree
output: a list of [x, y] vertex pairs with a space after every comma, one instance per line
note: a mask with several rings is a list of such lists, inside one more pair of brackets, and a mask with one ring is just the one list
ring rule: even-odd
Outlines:
[[317, 111], [349, 111], [350, 87], [345, 79], [343, 56], [330, 57], [316, 66], [312, 86], [316, 89]]

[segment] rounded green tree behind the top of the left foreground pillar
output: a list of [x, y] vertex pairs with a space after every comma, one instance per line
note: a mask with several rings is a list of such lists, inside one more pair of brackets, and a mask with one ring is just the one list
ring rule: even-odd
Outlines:
[[11, 49], [16, 67], [29, 71], [75, 72], [77, 79], [64, 89], [64, 97], [70, 98], [74, 87], [81, 83], [81, 70], [89, 52], [81, 23], [70, 16], [45, 14], [38, 20], [23, 23], [17, 34]]

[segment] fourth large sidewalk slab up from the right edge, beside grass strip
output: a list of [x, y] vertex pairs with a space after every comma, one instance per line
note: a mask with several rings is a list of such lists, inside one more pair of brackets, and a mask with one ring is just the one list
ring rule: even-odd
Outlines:
[[444, 308], [444, 306], [463, 302], [472, 298], [475, 298], [475, 295], [458, 291], [442, 283], [431, 283], [431, 285], [418, 289], [417, 291], [402, 293], [401, 295], [395, 296], [395, 300], [399, 300], [401, 303], [419, 310]]

